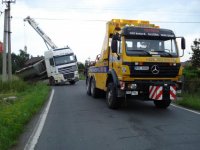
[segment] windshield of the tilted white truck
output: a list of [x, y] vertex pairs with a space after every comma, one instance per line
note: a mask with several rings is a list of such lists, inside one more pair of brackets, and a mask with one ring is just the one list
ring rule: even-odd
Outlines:
[[63, 55], [63, 56], [54, 56], [54, 61], [55, 61], [55, 65], [59, 66], [59, 65], [63, 65], [63, 64], [76, 62], [76, 57], [74, 56], [74, 54]]

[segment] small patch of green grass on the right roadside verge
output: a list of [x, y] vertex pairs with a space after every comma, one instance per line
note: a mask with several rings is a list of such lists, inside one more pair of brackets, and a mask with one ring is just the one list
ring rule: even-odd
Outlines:
[[182, 97], [177, 104], [200, 111], [200, 94], [183, 94]]

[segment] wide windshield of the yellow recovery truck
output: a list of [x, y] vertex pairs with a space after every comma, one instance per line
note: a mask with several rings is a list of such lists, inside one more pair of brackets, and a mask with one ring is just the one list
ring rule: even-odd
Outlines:
[[178, 48], [175, 39], [147, 40], [147, 39], [126, 39], [126, 53], [132, 56], [177, 57]]

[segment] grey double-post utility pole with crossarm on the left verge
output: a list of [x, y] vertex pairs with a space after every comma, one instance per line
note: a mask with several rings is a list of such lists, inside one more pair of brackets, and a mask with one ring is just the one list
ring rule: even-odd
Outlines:
[[[15, 3], [16, 0], [2, 0], [2, 3], [7, 5], [7, 9], [5, 9], [5, 22], [4, 22], [4, 55], [3, 57], [3, 77], [2, 81], [12, 80], [12, 58], [11, 58], [11, 28], [10, 28], [10, 4]], [[6, 27], [6, 28], [5, 28]], [[6, 65], [6, 52], [8, 49], [8, 67]], [[5, 61], [5, 62], [4, 62]], [[5, 64], [4, 64], [5, 63]], [[4, 66], [5, 65], [5, 66]], [[4, 68], [5, 67], [5, 68]], [[7, 70], [8, 69], [8, 78], [7, 78]]]

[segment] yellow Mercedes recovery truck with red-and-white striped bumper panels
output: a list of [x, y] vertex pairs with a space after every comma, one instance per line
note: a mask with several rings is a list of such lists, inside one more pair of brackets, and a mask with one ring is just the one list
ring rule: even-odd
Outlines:
[[149, 21], [112, 19], [107, 22], [101, 54], [88, 68], [87, 94], [106, 92], [109, 108], [116, 109], [127, 97], [152, 100], [167, 108], [181, 89], [183, 68], [176, 39], [185, 39]]

